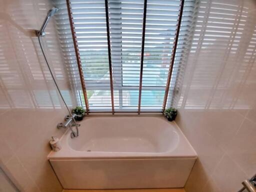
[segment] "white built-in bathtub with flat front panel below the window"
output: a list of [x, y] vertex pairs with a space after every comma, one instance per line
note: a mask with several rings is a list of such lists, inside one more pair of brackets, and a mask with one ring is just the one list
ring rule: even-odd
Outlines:
[[85, 117], [48, 159], [65, 189], [183, 187], [197, 157], [175, 122], [152, 116]]

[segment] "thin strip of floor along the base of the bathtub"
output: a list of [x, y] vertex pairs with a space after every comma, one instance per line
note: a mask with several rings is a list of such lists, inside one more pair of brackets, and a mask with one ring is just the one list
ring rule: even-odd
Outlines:
[[185, 192], [183, 188], [153, 188], [153, 189], [98, 189], [98, 190], [74, 190], [64, 189], [62, 192]]

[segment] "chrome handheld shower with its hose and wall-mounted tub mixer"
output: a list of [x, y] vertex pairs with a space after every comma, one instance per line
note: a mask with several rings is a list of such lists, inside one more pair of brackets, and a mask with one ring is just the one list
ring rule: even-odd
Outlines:
[[[44, 60], [45, 60], [45, 62], [46, 62], [46, 64], [47, 64], [47, 67], [48, 67], [48, 69], [49, 69], [49, 71], [50, 71], [50, 75], [51, 75], [51, 77], [52, 77], [52, 79], [53, 79], [53, 82], [54, 82], [54, 84], [56, 85], [57, 91], [58, 91], [58, 93], [59, 93], [59, 95], [60, 95], [62, 101], [64, 102], [65, 107], [67, 108], [68, 113], [69, 113], [69, 115], [67, 115], [66, 118], [65, 118], [66, 121], [65, 121], [65, 123], [63, 124], [63, 127], [69, 126], [69, 128], [70, 128], [70, 130], [71, 130], [71, 138], [73, 138], [73, 137], [77, 137], [77, 136], [78, 136], [78, 126], [79, 126], [79, 124], [76, 123], [76, 121], [75, 121], [75, 119], [74, 119], [75, 115], [71, 113], [70, 109], [68, 108], [68, 106], [67, 106], [67, 104], [66, 104], [66, 102], [65, 102], [65, 99], [64, 99], [63, 95], [62, 95], [61, 92], [60, 92], [60, 89], [59, 89], [59, 87], [58, 87], [57, 81], [55, 80], [55, 77], [54, 77], [54, 75], [53, 75], [53, 73], [52, 73], [52, 71], [51, 71], [50, 65], [49, 65], [49, 63], [48, 63], [47, 57], [46, 57], [46, 55], [45, 55], [45, 53], [44, 53], [44, 50], [43, 50], [43, 47], [42, 47], [42, 44], [41, 44], [41, 39], [40, 39], [41, 36], [44, 36], [44, 35], [45, 35], [44, 29], [45, 29], [45, 27], [46, 27], [46, 25], [47, 25], [47, 23], [48, 23], [50, 17], [52, 17], [57, 11], [58, 11], [58, 8], [57, 8], [57, 7], [52, 7], [52, 8], [47, 12], [47, 15], [46, 15], [46, 17], [44, 18], [44, 21], [43, 21], [43, 23], [42, 23], [40, 29], [39, 29], [39, 30], [35, 30], [35, 33], [36, 33], [36, 36], [37, 36], [37, 38], [38, 38], [40, 48], [41, 48], [41, 50], [42, 50], [42, 55], [43, 55]], [[71, 121], [73, 121], [73, 124], [71, 123]], [[76, 132], [74, 132], [74, 131], [72, 130], [71, 126], [75, 126]], [[60, 126], [60, 123], [57, 125], [57, 127], [58, 127], [58, 128], [61, 127], [61, 126]]]

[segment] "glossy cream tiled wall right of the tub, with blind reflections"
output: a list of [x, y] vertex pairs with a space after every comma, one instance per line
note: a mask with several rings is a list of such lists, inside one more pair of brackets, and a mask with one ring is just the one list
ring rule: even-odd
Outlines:
[[256, 1], [198, 3], [207, 6], [195, 22], [176, 119], [198, 154], [185, 189], [235, 192], [256, 173]]

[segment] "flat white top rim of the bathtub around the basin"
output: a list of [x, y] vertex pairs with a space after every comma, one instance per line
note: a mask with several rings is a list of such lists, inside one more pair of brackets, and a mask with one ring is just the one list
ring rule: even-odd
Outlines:
[[[83, 121], [86, 121], [86, 119], [96, 118], [96, 117], [140, 117], [138, 115], [88, 115], [86, 116]], [[176, 129], [179, 139], [183, 140], [183, 144], [187, 145], [189, 148], [189, 153], [179, 153], [179, 151], [176, 151], [176, 153], [165, 151], [165, 152], [109, 152], [109, 151], [79, 151], [71, 148], [69, 144], [67, 143], [67, 136], [70, 136], [70, 130], [66, 129], [65, 132], [60, 137], [60, 142], [62, 148], [57, 151], [50, 151], [47, 155], [47, 159], [49, 160], [67, 160], [67, 159], [177, 159], [177, 158], [188, 158], [188, 159], [196, 159], [197, 153], [184, 135], [184, 133], [181, 131], [181, 129], [178, 127], [175, 121], [167, 121], [167, 119], [163, 115], [141, 115], [141, 117], [155, 117], [160, 118], [161, 120], [165, 120], [167, 123], [170, 124], [170, 126], [174, 126]], [[79, 135], [81, 136], [81, 135]], [[75, 138], [72, 138], [75, 139]], [[64, 150], [65, 151], [64, 151]]]

